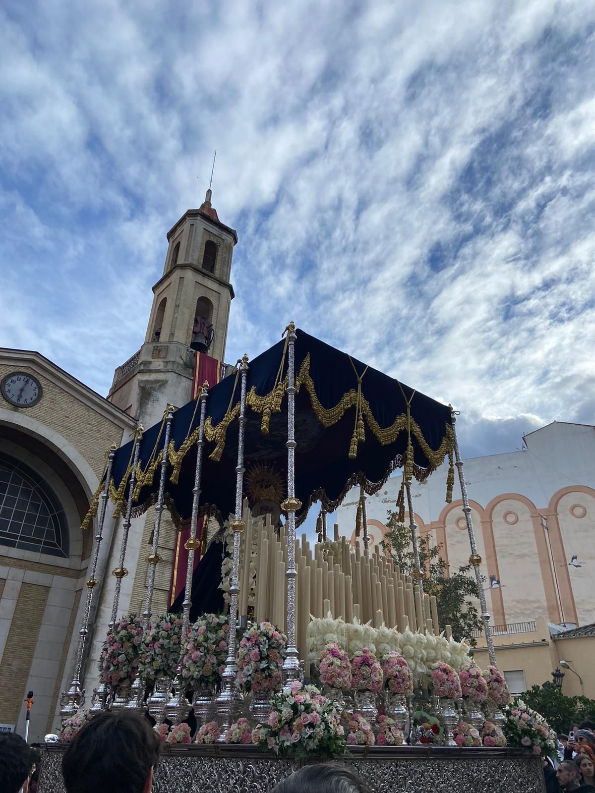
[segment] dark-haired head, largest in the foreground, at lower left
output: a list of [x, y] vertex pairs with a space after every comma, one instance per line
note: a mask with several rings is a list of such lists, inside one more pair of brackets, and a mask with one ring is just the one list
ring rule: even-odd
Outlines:
[[144, 716], [98, 713], [63, 755], [64, 787], [67, 793], [143, 793], [159, 749], [159, 737]]

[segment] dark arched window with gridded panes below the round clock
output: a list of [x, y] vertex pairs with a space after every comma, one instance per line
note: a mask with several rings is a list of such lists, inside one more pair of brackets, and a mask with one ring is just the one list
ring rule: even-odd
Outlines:
[[68, 558], [66, 515], [28, 465], [0, 454], [0, 545]]

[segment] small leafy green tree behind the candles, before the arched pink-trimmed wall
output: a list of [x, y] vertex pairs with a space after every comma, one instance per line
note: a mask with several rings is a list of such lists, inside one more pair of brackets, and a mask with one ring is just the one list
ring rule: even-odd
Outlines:
[[[391, 511], [386, 528], [382, 548], [390, 554], [401, 573], [411, 575], [416, 565], [409, 528], [398, 523], [397, 512]], [[475, 646], [473, 631], [481, 630], [483, 623], [477, 607], [469, 600], [479, 596], [477, 582], [470, 576], [471, 565], [463, 565], [449, 574], [448, 565], [440, 556], [440, 547], [430, 546], [427, 537], [419, 538], [420, 567], [426, 573], [424, 592], [436, 596], [440, 625], [450, 625], [457, 641], [466, 638]]]

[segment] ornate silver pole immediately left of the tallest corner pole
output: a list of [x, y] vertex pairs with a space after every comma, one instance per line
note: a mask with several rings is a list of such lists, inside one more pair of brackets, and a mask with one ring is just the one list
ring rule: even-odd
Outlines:
[[240, 703], [240, 691], [237, 690], [237, 663], [236, 663], [236, 626], [237, 626], [237, 596], [240, 592], [240, 534], [244, 531], [245, 523], [242, 519], [242, 494], [244, 492], [244, 433], [246, 429], [246, 378], [248, 377], [248, 355], [244, 354], [240, 364], [242, 385], [240, 396], [240, 431], [238, 433], [237, 466], [236, 466], [236, 516], [229, 524], [233, 532], [232, 580], [229, 587], [229, 642], [228, 655], [225, 660], [225, 669], [221, 675], [221, 694], [215, 700], [217, 721], [221, 727], [221, 740], [223, 733], [231, 725], [233, 716]]

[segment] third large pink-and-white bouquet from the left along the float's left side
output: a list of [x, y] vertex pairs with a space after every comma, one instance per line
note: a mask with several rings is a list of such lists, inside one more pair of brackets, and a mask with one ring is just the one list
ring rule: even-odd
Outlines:
[[182, 678], [190, 688], [221, 681], [228, 637], [228, 617], [224, 614], [205, 614], [190, 626], [182, 658]]

